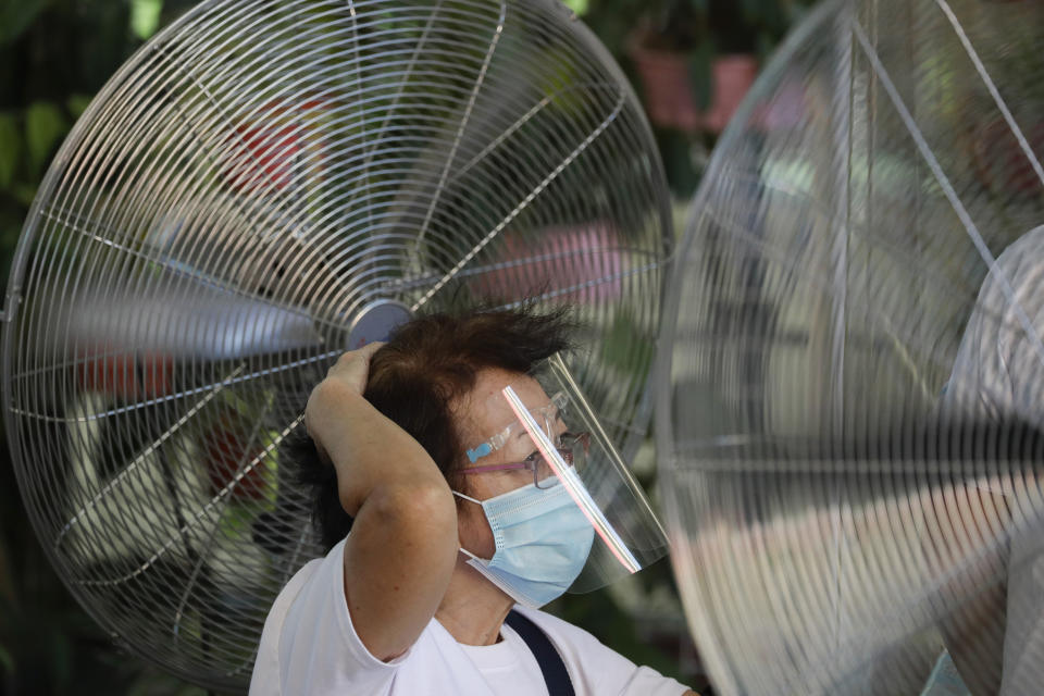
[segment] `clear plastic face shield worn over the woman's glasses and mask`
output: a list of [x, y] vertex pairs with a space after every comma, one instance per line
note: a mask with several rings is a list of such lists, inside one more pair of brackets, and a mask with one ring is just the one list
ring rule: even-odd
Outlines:
[[[577, 526], [586, 526], [588, 546], [567, 592], [597, 589], [666, 555], [662, 525], [561, 356], [506, 385], [485, 407], [510, 420], [468, 448], [463, 473], [468, 478], [497, 477], [487, 480], [492, 487], [509, 492], [483, 506], [487, 518], [496, 514], [501, 498], [514, 515], [520, 505], [539, 510], [534, 512], [539, 519], [526, 521], [529, 527], [543, 530], [531, 542], [534, 567], [548, 562], [549, 556], [563, 562], [575, 556], [567, 539], [584, 537]], [[556, 525], [561, 525], [560, 534]], [[494, 529], [494, 534], [499, 531]]]

